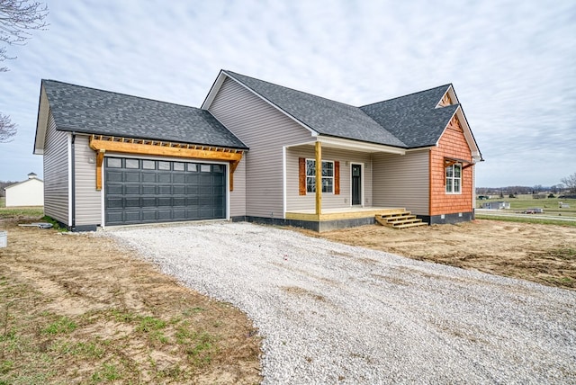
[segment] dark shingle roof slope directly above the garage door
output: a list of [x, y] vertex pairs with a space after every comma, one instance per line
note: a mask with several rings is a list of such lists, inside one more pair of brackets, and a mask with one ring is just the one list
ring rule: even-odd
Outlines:
[[210, 112], [55, 80], [42, 80], [57, 130], [247, 148]]

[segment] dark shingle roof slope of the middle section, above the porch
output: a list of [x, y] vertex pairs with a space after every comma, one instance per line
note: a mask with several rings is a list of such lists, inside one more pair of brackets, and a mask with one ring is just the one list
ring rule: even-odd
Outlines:
[[320, 134], [406, 147], [401, 139], [396, 138], [357, 107], [268, 83], [254, 77], [231, 71], [224, 72]]

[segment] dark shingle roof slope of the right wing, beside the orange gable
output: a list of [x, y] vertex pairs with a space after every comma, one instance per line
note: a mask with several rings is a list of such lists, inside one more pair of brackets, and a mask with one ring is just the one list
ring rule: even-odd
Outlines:
[[360, 109], [409, 148], [433, 146], [459, 104], [436, 108], [450, 85], [368, 104]]

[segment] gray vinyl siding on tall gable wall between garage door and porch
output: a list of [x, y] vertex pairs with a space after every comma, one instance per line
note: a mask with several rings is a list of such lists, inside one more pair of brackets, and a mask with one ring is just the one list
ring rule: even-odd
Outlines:
[[246, 215], [282, 218], [283, 147], [310, 141], [311, 132], [229, 78], [209, 111], [250, 148], [242, 160], [246, 162]]

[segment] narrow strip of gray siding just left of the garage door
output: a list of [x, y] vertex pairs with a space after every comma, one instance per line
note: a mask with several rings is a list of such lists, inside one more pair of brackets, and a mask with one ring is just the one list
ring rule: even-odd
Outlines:
[[96, 154], [88, 137], [76, 135], [74, 144], [76, 226], [100, 225], [102, 195], [96, 190]]

